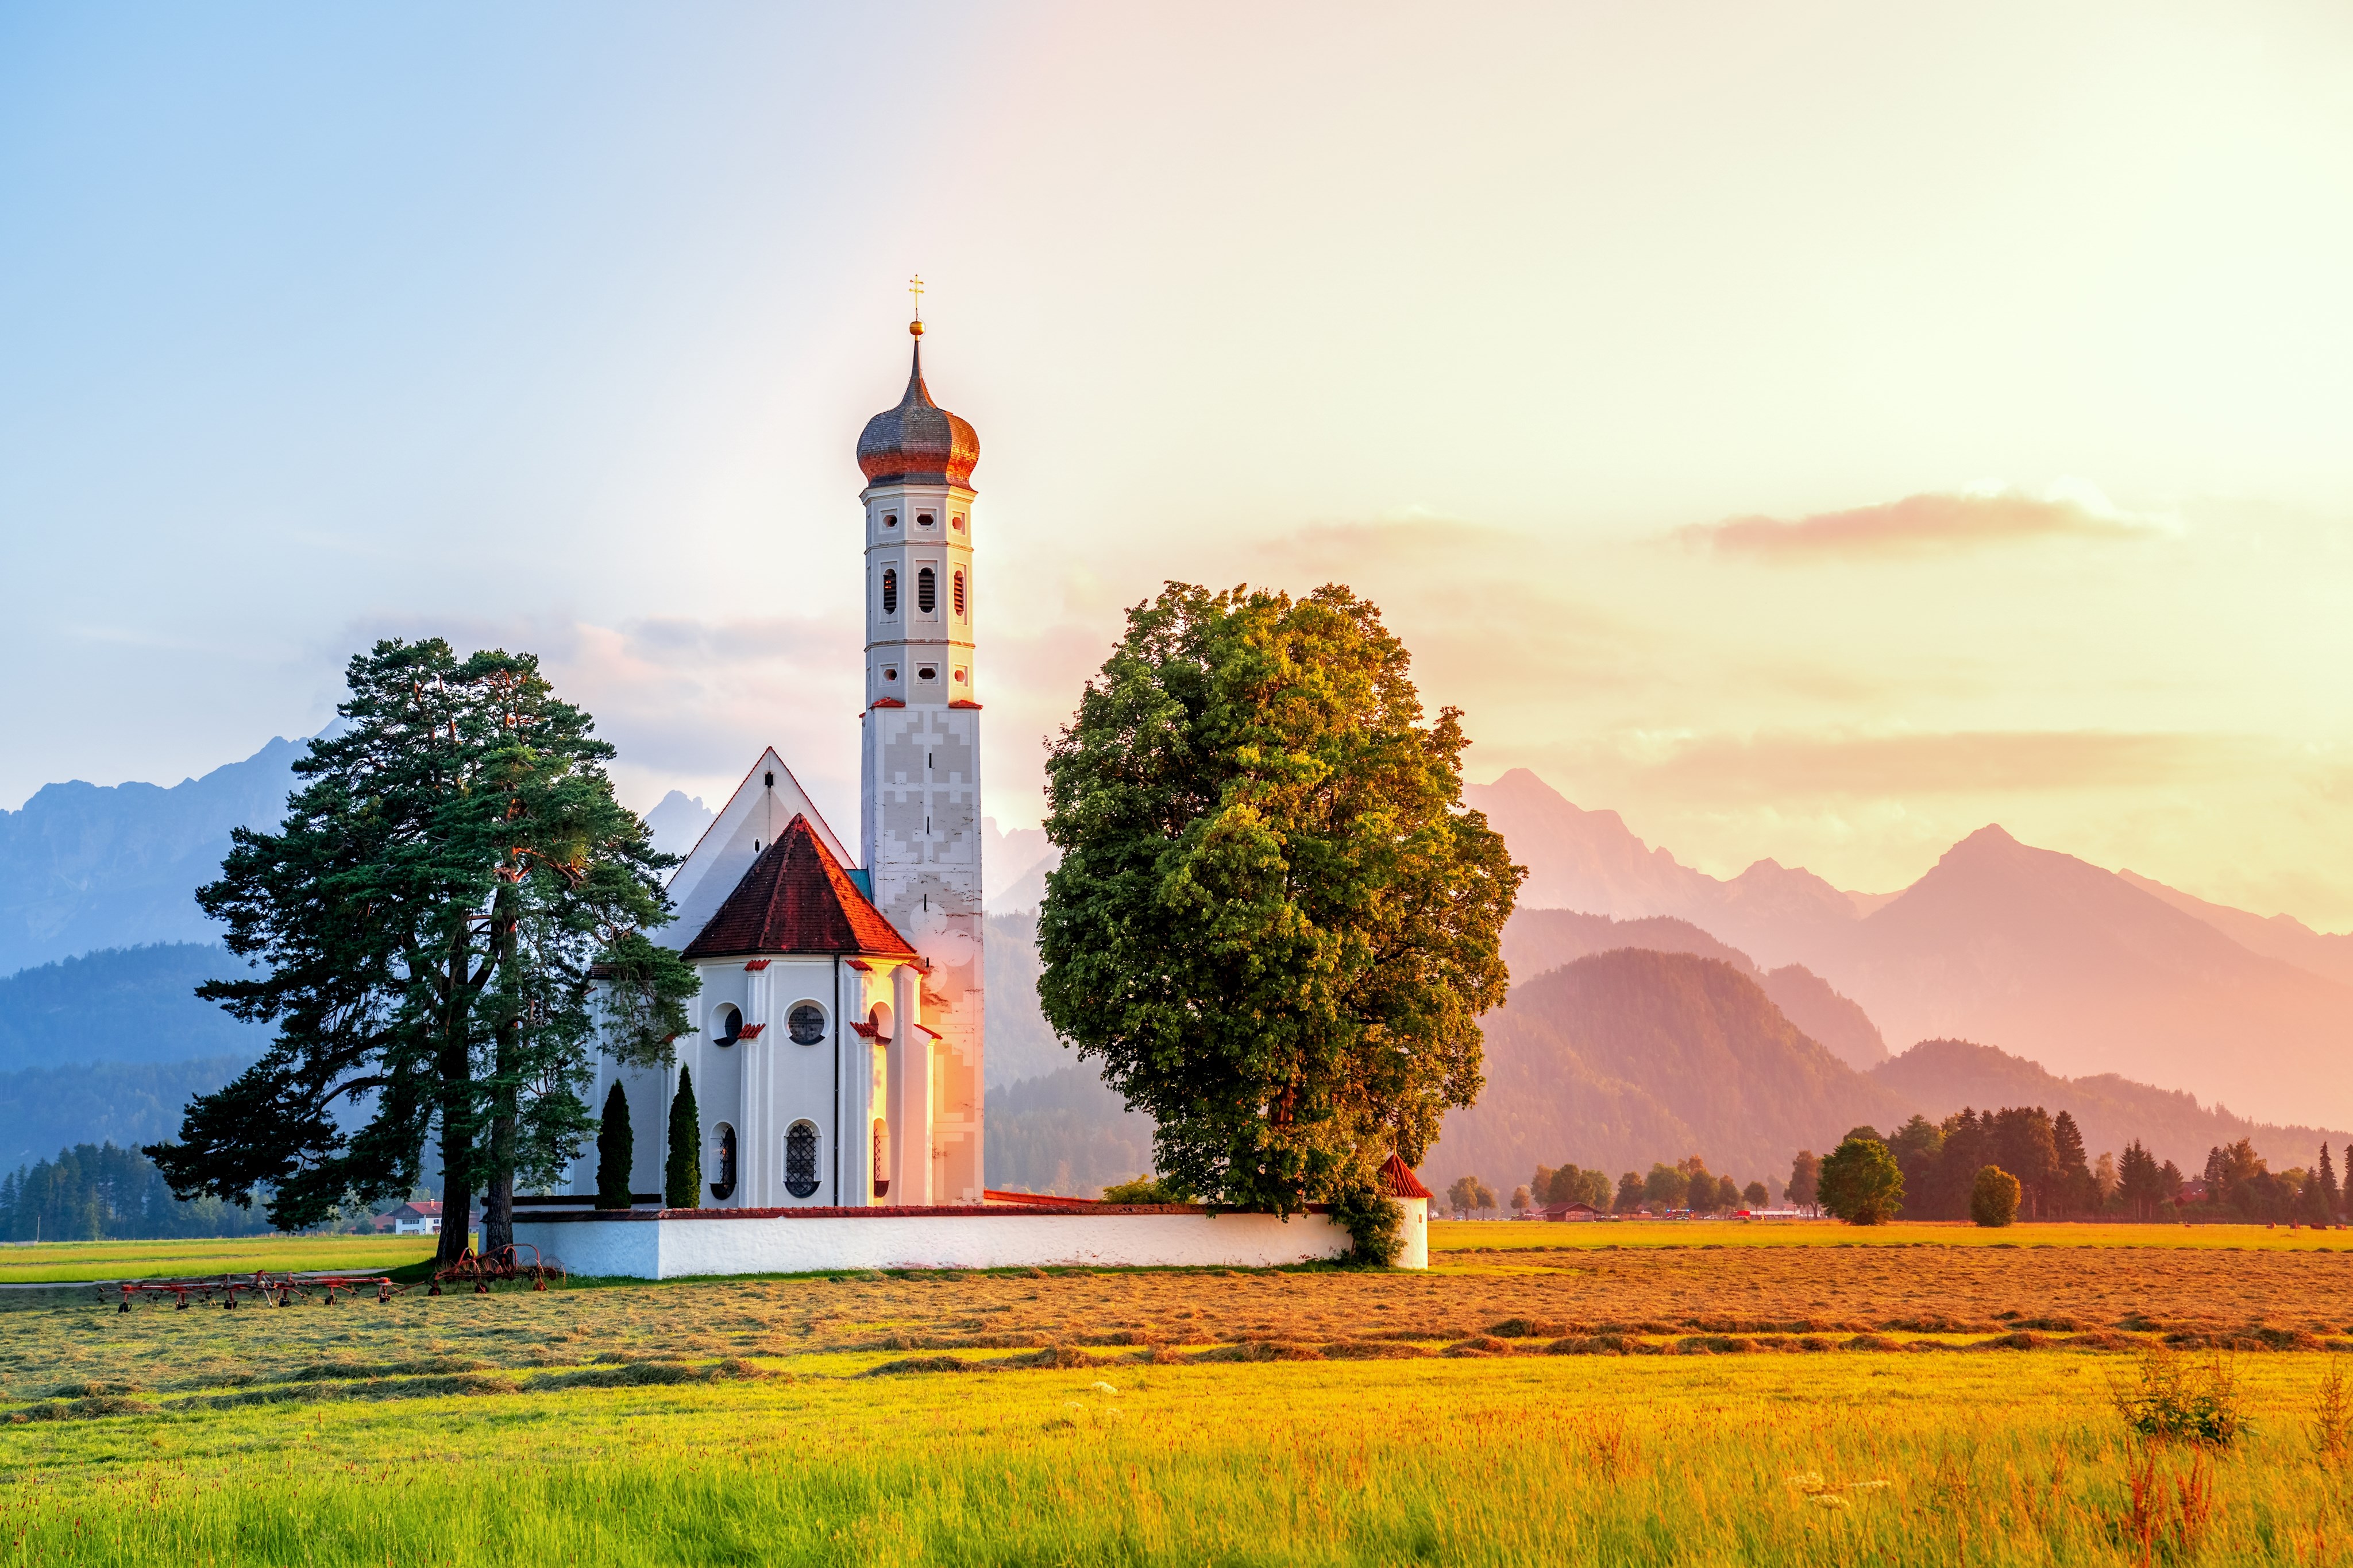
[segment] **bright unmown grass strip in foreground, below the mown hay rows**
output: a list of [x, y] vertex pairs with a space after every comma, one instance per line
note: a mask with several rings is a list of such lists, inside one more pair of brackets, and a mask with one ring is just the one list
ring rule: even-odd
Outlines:
[[[2344, 1561], [2353, 1476], [2304, 1432], [2332, 1361], [2242, 1359], [2252, 1434], [2155, 1561]], [[0, 1563], [2139, 1563], [2125, 1371], [838, 1363], [38, 1422], [0, 1427]], [[2195, 1465], [2155, 1455], [2167, 1497]]]

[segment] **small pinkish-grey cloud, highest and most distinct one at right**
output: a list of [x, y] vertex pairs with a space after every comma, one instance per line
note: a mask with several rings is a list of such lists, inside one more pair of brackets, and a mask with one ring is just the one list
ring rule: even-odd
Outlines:
[[2059, 482], [2040, 496], [1984, 484], [1812, 517], [1727, 517], [1678, 529], [1678, 536], [1706, 545], [1713, 555], [1795, 564], [1979, 550], [2042, 538], [2127, 541], [2155, 531], [2160, 531], [2155, 520], [2115, 508], [2092, 484]]

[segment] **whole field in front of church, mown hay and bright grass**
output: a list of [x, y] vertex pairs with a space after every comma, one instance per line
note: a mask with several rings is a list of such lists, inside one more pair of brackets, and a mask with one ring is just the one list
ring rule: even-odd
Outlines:
[[[5, 1293], [0, 1563], [2353, 1561], [2353, 1248], [2165, 1234]], [[2111, 1408], [2167, 1340], [2235, 1366], [2214, 1460]]]

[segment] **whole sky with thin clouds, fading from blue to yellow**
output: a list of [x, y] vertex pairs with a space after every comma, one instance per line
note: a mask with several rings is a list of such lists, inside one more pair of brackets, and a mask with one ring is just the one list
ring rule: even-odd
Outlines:
[[915, 273], [1007, 827], [1125, 607], [1341, 581], [1704, 870], [2353, 926], [2341, 5], [0, 7], [0, 806], [445, 635], [854, 823]]

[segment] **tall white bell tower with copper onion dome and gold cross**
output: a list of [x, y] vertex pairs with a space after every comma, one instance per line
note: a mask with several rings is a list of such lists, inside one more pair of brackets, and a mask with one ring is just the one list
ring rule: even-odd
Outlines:
[[[866, 421], [866, 717], [859, 849], [871, 898], [922, 954], [892, 1020], [889, 1095], [929, 1126], [899, 1135], [892, 1204], [981, 1201], [981, 703], [974, 651], [972, 468], [981, 440], [913, 371]], [[927, 1112], [927, 1114], [925, 1114]]]

